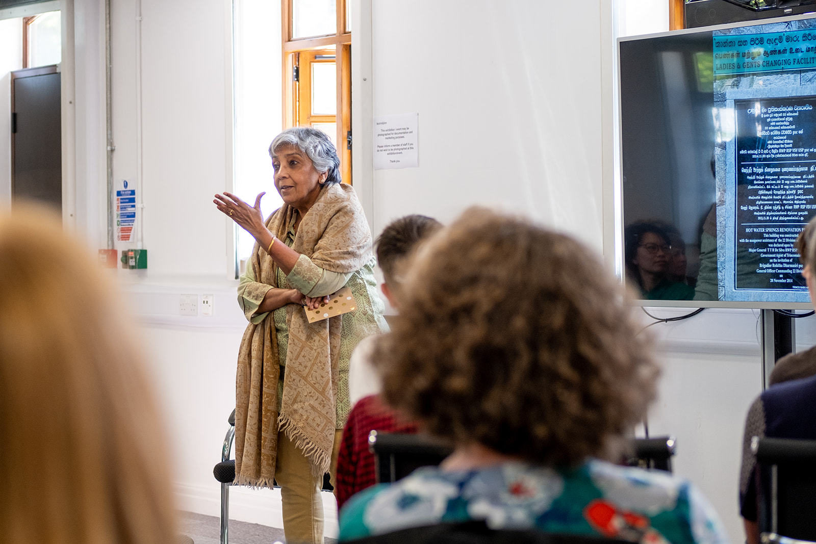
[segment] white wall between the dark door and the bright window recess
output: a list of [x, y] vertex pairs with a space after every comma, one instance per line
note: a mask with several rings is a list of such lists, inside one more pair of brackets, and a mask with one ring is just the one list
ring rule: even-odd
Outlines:
[[135, 2], [112, 3], [114, 180], [135, 181], [141, 161], [146, 276], [223, 277], [231, 242], [211, 201], [232, 184], [228, 9], [224, 0], [141, 2], [140, 104]]

